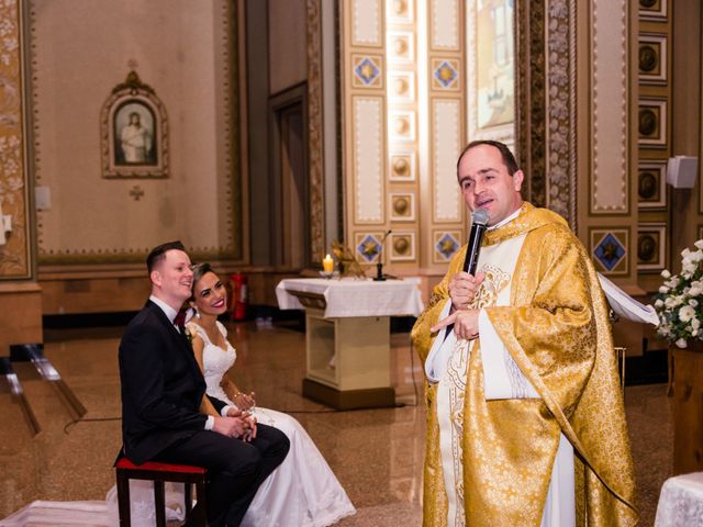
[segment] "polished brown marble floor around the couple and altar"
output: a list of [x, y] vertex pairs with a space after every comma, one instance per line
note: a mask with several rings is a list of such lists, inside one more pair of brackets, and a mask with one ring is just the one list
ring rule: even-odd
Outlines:
[[[422, 370], [408, 334], [392, 335], [392, 382], [401, 404], [334, 412], [302, 397], [305, 343], [299, 327], [247, 322], [228, 328], [238, 352], [237, 384], [256, 391], [259, 406], [289, 412], [300, 421], [356, 505], [357, 514], [338, 525], [420, 526], [425, 412], [417, 397]], [[104, 500], [121, 445], [120, 334], [121, 328], [46, 333], [45, 356], [87, 410], [80, 421], [54, 384], [42, 380], [30, 363], [15, 365], [41, 427], [33, 436], [22, 407], [0, 381], [0, 518], [35, 500]], [[666, 386], [627, 388], [626, 406], [640, 525], [650, 526], [661, 484], [671, 475]]]

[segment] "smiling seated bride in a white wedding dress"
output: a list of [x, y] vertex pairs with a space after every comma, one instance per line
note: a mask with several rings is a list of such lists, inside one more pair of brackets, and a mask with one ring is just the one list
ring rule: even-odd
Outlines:
[[288, 414], [255, 406], [226, 372], [236, 359], [227, 330], [217, 322], [226, 312], [226, 290], [209, 264], [193, 268], [190, 305], [194, 316], [187, 330], [208, 384], [208, 394], [248, 410], [259, 423], [275, 426], [290, 439], [283, 462], [261, 484], [242, 522], [243, 527], [324, 527], [356, 512], [346, 492], [305, 429]]

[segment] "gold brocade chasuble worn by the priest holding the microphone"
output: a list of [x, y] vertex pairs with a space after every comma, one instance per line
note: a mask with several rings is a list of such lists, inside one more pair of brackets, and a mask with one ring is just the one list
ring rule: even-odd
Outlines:
[[[459, 340], [447, 360], [447, 375], [426, 388], [423, 525], [447, 526], [449, 503], [460, 500], [467, 526], [539, 527], [561, 437], [573, 447], [576, 525], [635, 525], [634, 471], [617, 359], [595, 270], [565, 220], [529, 203], [514, 220], [487, 232], [482, 246], [518, 237], [523, 239], [516, 261], [500, 266], [512, 271], [507, 305], [486, 302], [483, 288], [477, 307], [484, 310], [536, 397], [487, 400], [480, 338], [471, 345]], [[437, 336], [429, 328], [447, 305], [449, 278], [461, 270], [465, 255], [466, 246], [453, 258], [413, 327], [423, 362]], [[484, 282], [489, 279], [494, 289], [495, 277]], [[499, 293], [494, 290], [493, 296]], [[447, 391], [451, 375], [461, 379], [450, 380]], [[446, 433], [440, 435], [440, 426], [446, 430], [446, 407], [454, 423], [449, 442]], [[451, 475], [443, 469], [448, 451], [460, 463]], [[447, 494], [446, 475], [451, 481], [456, 474], [462, 482]], [[455, 522], [453, 517], [449, 525]]]

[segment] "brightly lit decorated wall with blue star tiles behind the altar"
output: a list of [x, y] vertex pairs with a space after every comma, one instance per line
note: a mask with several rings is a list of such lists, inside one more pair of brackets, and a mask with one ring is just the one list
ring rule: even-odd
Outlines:
[[376, 273], [429, 290], [464, 243], [465, 2], [354, 0], [341, 13], [344, 237]]

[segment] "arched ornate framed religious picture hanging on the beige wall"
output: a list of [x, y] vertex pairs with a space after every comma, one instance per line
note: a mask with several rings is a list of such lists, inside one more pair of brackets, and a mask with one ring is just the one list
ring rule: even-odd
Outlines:
[[168, 177], [168, 117], [152, 87], [130, 71], [101, 112], [102, 176]]

